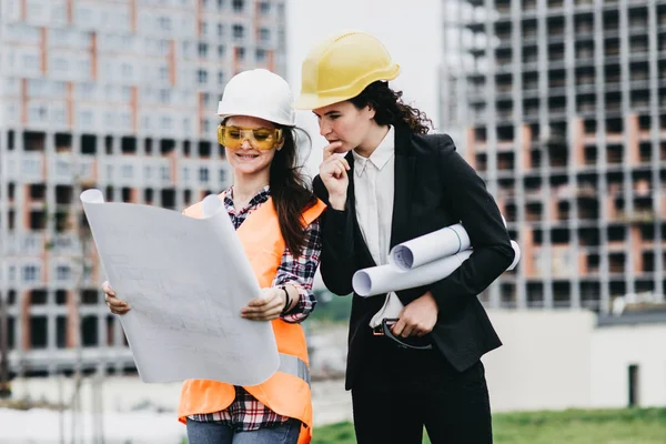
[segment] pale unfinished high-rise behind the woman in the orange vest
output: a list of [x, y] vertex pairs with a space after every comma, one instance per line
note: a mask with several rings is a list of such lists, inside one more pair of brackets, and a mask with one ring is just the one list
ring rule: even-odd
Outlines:
[[79, 194], [182, 209], [226, 186], [218, 101], [239, 71], [284, 73], [284, 16], [283, 0], [0, 1], [0, 344], [12, 374], [133, 369]]

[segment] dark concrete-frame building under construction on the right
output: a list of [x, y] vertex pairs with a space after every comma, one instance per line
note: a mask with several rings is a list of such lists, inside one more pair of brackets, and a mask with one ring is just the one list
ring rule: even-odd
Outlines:
[[664, 300], [666, 1], [466, 1], [465, 155], [523, 258], [492, 307]]

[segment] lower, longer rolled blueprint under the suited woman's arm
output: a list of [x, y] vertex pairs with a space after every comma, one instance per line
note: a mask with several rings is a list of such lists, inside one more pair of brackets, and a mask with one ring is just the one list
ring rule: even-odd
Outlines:
[[[515, 258], [506, 270], [513, 270], [521, 259], [518, 244], [511, 241], [511, 246], [515, 252]], [[407, 271], [400, 270], [393, 264], [371, 266], [354, 273], [352, 286], [360, 296], [373, 296], [428, 285], [448, 276], [471, 255], [472, 250], [468, 249]]]

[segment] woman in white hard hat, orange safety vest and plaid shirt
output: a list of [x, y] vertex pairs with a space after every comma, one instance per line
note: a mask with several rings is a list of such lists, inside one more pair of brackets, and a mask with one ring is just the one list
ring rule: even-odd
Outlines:
[[[295, 117], [284, 79], [262, 69], [239, 73], [224, 89], [218, 115], [218, 138], [234, 172], [233, 185], [220, 199], [263, 287], [241, 315], [272, 322], [280, 369], [251, 387], [185, 381], [179, 420], [190, 444], [309, 443], [312, 401], [300, 322], [315, 305], [311, 289], [325, 205], [305, 186], [296, 164]], [[184, 213], [201, 216], [201, 204]], [[103, 290], [112, 313], [130, 310], [109, 283]]]

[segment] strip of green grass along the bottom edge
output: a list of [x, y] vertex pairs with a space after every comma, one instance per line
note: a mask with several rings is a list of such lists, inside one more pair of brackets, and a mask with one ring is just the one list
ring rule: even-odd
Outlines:
[[[664, 444], [665, 408], [567, 410], [493, 415], [495, 444]], [[427, 437], [424, 443], [430, 444]], [[314, 430], [312, 444], [353, 444], [350, 423]]]

